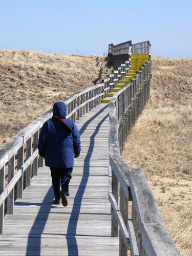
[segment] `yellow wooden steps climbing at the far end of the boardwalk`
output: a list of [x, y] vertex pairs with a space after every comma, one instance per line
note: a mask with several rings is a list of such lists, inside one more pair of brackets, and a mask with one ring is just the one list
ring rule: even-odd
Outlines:
[[[132, 53], [129, 71], [123, 76], [122, 79], [119, 80], [117, 84], [115, 84], [115, 88], [112, 88], [111, 93], [106, 94], [106, 98], [102, 99], [102, 103], [109, 103], [112, 99], [114, 93], [121, 90], [121, 88], [125, 87], [127, 83], [132, 83], [132, 79], [135, 79], [139, 70], [145, 65], [147, 61], [150, 60], [150, 55], [147, 53]], [[140, 84], [142, 87], [142, 84]]]

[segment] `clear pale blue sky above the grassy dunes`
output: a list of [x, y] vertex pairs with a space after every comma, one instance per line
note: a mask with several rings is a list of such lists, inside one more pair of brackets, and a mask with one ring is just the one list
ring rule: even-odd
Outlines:
[[152, 55], [192, 57], [192, 0], [0, 0], [0, 49], [100, 55], [150, 40]]

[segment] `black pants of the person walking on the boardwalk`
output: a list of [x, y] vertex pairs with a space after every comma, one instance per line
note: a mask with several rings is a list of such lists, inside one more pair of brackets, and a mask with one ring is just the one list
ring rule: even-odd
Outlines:
[[50, 167], [50, 169], [55, 199], [60, 199], [60, 186], [64, 189], [67, 196], [69, 196], [69, 182], [73, 168]]

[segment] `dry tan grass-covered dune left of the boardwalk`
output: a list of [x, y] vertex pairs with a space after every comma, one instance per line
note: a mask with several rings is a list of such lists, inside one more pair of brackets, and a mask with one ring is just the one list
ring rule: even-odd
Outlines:
[[74, 92], [110, 74], [102, 56], [0, 50], [0, 146]]

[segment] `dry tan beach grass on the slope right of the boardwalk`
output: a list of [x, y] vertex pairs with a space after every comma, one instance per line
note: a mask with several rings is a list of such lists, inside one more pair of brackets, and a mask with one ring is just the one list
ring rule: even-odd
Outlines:
[[182, 255], [192, 255], [192, 59], [156, 57], [151, 95], [123, 158], [144, 169]]

